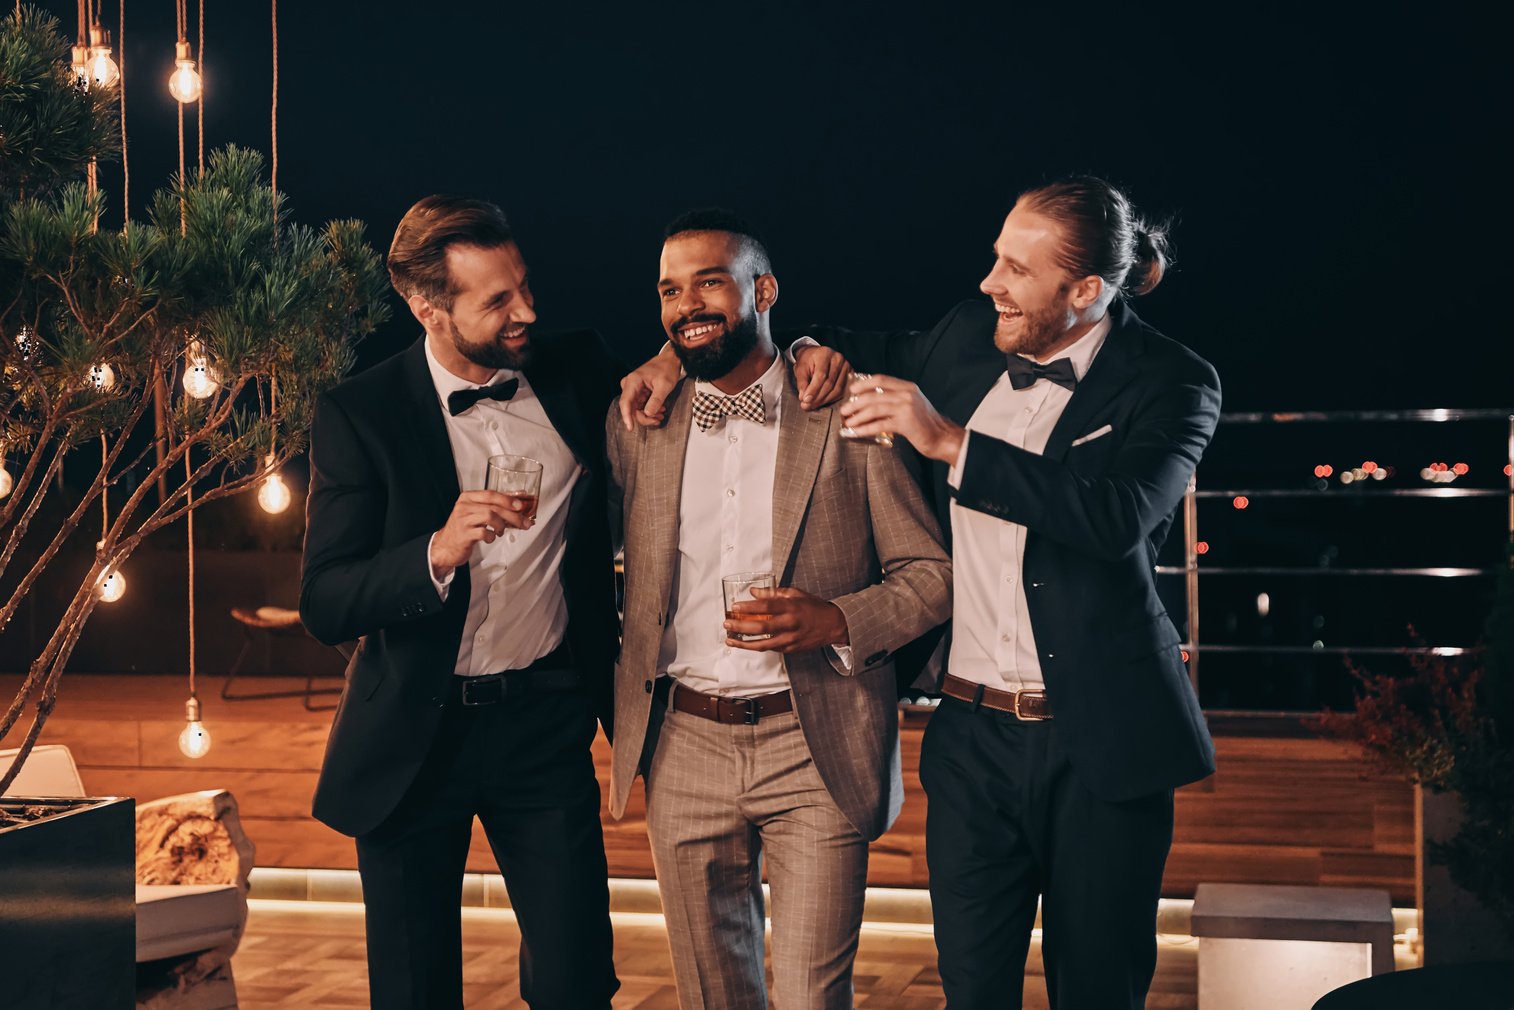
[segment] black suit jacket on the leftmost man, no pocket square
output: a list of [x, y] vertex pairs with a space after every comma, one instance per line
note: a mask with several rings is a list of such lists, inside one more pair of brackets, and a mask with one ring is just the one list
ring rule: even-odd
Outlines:
[[[560, 575], [566, 641], [609, 734], [618, 622], [603, 418], [622, 371], [592, 332], [531, 336], [525, 377], [586, 471]], [[345, 834], [395, 809], [441, 722], [471, 586], [459, 568], [442, 603], [427, 547], [457, 495], [424, 338], [319, 398], [300, 616], [327, 645], [359, 639], [315, 789], [315, 816]]]

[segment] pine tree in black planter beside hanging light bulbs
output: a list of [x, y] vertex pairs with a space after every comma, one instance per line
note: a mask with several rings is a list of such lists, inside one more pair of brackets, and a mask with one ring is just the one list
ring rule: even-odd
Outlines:
[[[303, 448], [315, 397], [386, 313], [362, 224], [312, 230], [280, 215], [254, 151], [212, 153], [160, 189], [145, 220], [106, 227], [92, 167], [117, 154], [117, 94], [86, 86], [68, 58], [53, 18], [0, 20], [0, 636], [59, 557], [80, 562], [58, 606], [33, 609], [38, 648], [0, 709], [0, 747], [20, 751], [0, 763], [0, 795], [132, 551], [276, 477]], [[65, 551], [79, 541], [92, 551]], [[3, 806], [0, 1002], [30, 1005], [17, 975], [118, 968], [132, 804]], [[59, 943], [77, 955], [58, 960]], [[127, 955], [127, 977], [130, 966]], [[100, 992], [67, 1005], [120, 1005]]]

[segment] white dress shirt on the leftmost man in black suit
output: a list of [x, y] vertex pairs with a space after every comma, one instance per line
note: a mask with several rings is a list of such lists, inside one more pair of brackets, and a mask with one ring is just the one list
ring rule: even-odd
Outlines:
[[[501, 368], [484, 385], [515, 379], [519, 382], [515, 397], [503, 403], [480, 400], [453, 416], [447, 397], [457, 389], [477, 389], [478, 385], [447, 371], [431, 353], [428, 339], [425, 363], [431, 369], [438, 409], [447, 424], [459, 488], [483, 489], [489, 457], [500, 453], [530, 456], [542, 463], [536, 524], [530, 530], [506, 528], [494, 544], [480, 541], [468, 557], [468, 618], [453, 672], [478, 677], [521, 669], [557, 648], [568, 631], [568, 601], [559, 568], [566, 550], [568, 503], [584, 471], [547, 418], [525, 376]], [[454, 574], [447, 572], [441, 580], [431, 574], [442, 600]]]

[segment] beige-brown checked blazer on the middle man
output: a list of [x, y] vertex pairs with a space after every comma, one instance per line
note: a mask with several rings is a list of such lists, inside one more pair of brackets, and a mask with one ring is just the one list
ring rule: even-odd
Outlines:
[[[830, 600], [846, 615], [852, 672], [824, 650], [784, 657], [815, 766], [846, 819], [868, 839], [899, 813], [899, 716], [892, 654], [951, 616], [951, 559], [940, 528], [896, 450], [843, 439], [833, 407], [799, 407], [792, 374], [781, 391], [772, 488], [772, 557], [780, 586]], [[631, 781], [651, 762], [648, 730], [663, 624], [678, 559], [678, 503], [693, 383], [668, 400], [663, 427], [621, 426], [610, 407], [610, 498], [625, 542], [625, 622], [615, 666], [610, 812], [625, 813]], [[719, 592], [710, 586], [710, 592]], [[645, 759], [645, 760], [643, 760]]]

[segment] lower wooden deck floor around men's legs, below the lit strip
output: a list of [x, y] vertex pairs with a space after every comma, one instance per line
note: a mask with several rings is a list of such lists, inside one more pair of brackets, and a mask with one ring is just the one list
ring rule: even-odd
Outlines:
[[[463, 1001], [468, 1010], [525, 1010], [516, 993], [519, 933], [509, 912], [463, 910]], [[662, 918], [615, 916], [621, 992], [615, 1010], [677, 1010]], [[1196, 1010], [1198, 943], [1161, 939], [1148, 1010]], [[362, 906], [253, 901], [233, 962], [241, 1010], [321, 1010], [368, 1005]], [[936, 943], [925, 927], [866, 927], [855, 969], [857, 1007], [942, 1010]], [[1025, 1008], [1046, 1007], [1040, 945], [1031, 946]]]

